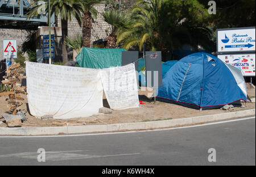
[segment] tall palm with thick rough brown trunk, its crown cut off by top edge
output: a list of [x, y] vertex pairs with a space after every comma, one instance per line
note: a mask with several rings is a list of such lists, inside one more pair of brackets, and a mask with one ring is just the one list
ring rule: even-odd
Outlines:
[[97, 10], [94, 5], [101, 3], [101, 0], [84, 0], [84, 13], [82, 15], [82, 45], [90, 47], [90, 37], [92, 33], [92, 18], [97, 17]]

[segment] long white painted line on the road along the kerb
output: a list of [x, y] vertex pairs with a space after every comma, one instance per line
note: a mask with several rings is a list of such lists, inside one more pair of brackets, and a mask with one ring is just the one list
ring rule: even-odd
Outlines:
[[87, 134], [67, 134], [67, 135], [52, 135], [52, 136], [0, 136], [0, 138], [47, 138], [47, 137], [76, 137], [76, 136], [94, 136], [94, 135], [105, 135], [105, 134], [123, 134], [123, 133], [140, 133], [140, 132], [154, 132], [154, 131], [163, 131], [163, 130], [174, 130], [174, 129], [183, 129], [183, 128], [193, 128], [193, 127], [203, 127], [207, 125], [214, 125], [214, 124], [223, 124], [223, 123], [230, 123], [234, 121], [241, 121], [241, 120], [249, 120], [255, 119], [255, 117], [246, 117], [241, 119], [233, 119], [233, 120], [225, 120], [225, 121], [217, 121], [214, 123], [205, 123], [200, 125], [191, 125], [185, 127], [174, 127], [174, 128], [161, 128], [161, 129], [154, 129], [154, 130], [139, 130], [139, 131], [127, 131], [127, 132], [108, 132], [108, 133], [87, 133]]

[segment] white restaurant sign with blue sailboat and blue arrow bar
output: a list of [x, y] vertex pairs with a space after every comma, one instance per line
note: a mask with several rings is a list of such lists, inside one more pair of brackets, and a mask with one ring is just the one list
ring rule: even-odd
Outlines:
[[217, 52], [255, 52], [255, 27], [217, 29]]

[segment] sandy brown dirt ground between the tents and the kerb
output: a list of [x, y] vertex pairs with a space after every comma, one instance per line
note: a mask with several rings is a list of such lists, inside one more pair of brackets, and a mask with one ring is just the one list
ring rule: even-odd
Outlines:
[[[187, 108], [171, 103], [158, 102], [154, 103], [153, 100], [148, 99], [145, 96], [145, 92], [139, 90], [139, 100], [146, 102], [146, 104], [141, 104], [139, 108], [130, 108], [123, 110], [113, 110], [113, 113], [103, 114], [98, 113], [90, 117], [79, 117], [76, 119], [49, 119], [41, 120], [30, 115], [27, 97], [25, 98], [23, 105], [20, 109], [28, 111], [26, 113], [27, 120], [22, 123], [22, 127], [55, 127], [55, 126], [75, 126], [75, 125], [97, 125], [97, 124], [114, 124], [114, 123], [135, 123], [143, 121], [153, 121], [153, 120], [167, 120], [167, 119], [179, 119], [184, 117], [193, 117], [201, 115], [211, 115], [216, 113], [225, 113], [230, 111], [240, 111], [245, 109], [255, 108], [255, 103], [247, 102], [245, 108], [235, 107], [233, 110], [224, 111], [222, 109], [210, 109], [199, 111], [197, 109]], [[247, 86], [247, 93], [250, 98], [255, 98], [255, 89]], [[10, 113], [7, 108], [7, 102], [5, 99], [7, 96], [0, 97], [0, 115], [4, 113]], [[108, 107], [108, 102], [106, 99], [103, 100], [104, 106]], [[0, 121], [4, 119], [0, 116]], [[6, 127], [5, 123], [0, 124], [0, 127]]]

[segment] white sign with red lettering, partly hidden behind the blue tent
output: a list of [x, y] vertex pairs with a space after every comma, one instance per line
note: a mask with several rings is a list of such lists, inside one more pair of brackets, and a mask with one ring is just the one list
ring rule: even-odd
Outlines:
[[244, 76], [255, 76], [255, 54], [221, 54], [218, 58], [240, 69]]

